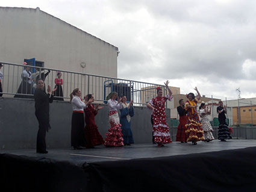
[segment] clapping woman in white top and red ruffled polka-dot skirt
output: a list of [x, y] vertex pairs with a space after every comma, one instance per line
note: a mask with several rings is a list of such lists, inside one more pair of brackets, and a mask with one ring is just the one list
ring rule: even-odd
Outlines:
[[122, 109], [122, 98], [117, 98], [117, 93], [112, 92], [110, 94], [110, 99], [108, 100], [108, 108], [109, 108], [109, 119], [111, 128], [108, 129], [106, 133], [107, 137], [105, 138], [105, 146], [106, 147], [120, 147], [123, 146], [123, 135], [122, 129], [120, 129], [121, 124], [119, 122], [119, 116], [117, 110]]

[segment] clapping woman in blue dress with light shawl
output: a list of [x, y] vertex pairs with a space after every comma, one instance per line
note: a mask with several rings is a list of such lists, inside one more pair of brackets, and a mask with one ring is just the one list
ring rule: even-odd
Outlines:
[[127, 98], [122, 98], [122, 109], [120, 109], [120, 123], [123, 134], [123, 144], [130, 146], [134, 143], [133, 132], [131, 132], [131, 117], [134, 116], [133, 101], [130, 104], [126, 103]]

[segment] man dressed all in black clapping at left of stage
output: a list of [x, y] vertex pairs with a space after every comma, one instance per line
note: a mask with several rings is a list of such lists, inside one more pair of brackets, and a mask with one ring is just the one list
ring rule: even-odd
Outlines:
[[36, 108], [36, 117], [39, 122], [39, 130], [37, 132], [37, 153], [48, 153], [46, 150], [46, 131], [51, 128], [49, 124], [49, 104], [53, 101], [53, 94], [56, 91], [54, 88], [51, 91], [51, 87], [48, 85], [47, 92], [45, 93], [44, 88], [45, 83], [43, 79], [39, 79], [37, 81], [37, 88], [34, 93], [34, 100], [35, 100], [35, 108]]

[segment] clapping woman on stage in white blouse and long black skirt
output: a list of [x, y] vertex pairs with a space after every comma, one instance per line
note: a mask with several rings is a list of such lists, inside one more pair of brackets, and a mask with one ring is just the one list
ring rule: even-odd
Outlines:
[[92, 99], [83, 102], [81, 99], [81, 91], [75, 88], [70, 93], [70, 102], [73, 108], [71, 121], [71, 146], [73, 149], [83, 149], [86, 147], [86, 137], [84, 135], [84, 109], [92, 103]]

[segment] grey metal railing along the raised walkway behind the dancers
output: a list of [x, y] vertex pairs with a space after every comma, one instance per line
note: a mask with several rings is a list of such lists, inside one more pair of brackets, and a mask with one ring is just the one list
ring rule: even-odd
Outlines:
[[65, 101], [68, 101], [74, 88], [80, 88], [82, 97], [93, 94], [97, 102], [107, 102], [111, 91], [116, 91], [119, 97], [126, 96], [128, 101], [133, 100], [136, 106], [145, 106], [150, 99], [155, 97], [157, 95], [156, 87], [162, 87], [164, 94], [167, 93], [164, 85], [37, 66], [29, 66], [33, 77], [33, 81], [30, 81], [27, 76], [24, 77], [23, 75], [22, 77], [22, 73], [26, 73], [24, 65], [0, 63], [4, 64], [1, 69], [4, 73], [2, 79], [2, 93], [4, 96], [14, 95], [17, 98], [33, 98], [37, 79], [45, 77], [45, 88], [47, 89], [48, 85], [54, 88], [58, 72], [62, 74], [63, 85], [61, 85], [61, 88], [63, 95], [59, 92], [55, 98], [63, 98]]

